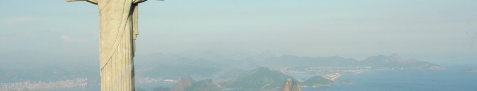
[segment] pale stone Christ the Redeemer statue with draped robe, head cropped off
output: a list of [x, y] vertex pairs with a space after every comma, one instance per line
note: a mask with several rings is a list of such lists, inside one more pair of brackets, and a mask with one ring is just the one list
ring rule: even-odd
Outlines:
[[138, 4], [147, 0], [87, 1], [99, 8], [101, 90], [134, 90], [134, 45], [138, 35]]

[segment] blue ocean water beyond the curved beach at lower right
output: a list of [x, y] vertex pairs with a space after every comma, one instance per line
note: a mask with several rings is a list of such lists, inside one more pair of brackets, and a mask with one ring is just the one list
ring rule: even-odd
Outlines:
[[[344, 74], [327, 87], [302, 90], [477, 90], [477, 72], [449, 70], [376, 70]], [[350, 81], [355, 84], [340, 84]]]

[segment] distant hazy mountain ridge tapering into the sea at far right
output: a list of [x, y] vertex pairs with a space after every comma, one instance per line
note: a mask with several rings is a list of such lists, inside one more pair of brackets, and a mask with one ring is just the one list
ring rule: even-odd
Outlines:
[[260, 62], [262, 65], [285, 66], [285, 67], [347, 67], [347, 66], [370, 66], [370, 67], [401, 67], [408, 69], [446, 69], [436, 64], [423, 62], [419, 60], [403, 60], [399, 55], [391, 56], [372, 56], [365, 60], [357, 61], [351, 58], [343, 57], [297, 57], [292, 55], [283, 55], [281, 57], [272, 57]]

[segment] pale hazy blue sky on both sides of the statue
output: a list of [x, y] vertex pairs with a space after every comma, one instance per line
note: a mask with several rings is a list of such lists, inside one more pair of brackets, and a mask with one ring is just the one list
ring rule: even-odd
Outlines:
[[[139, 8], [138, 55], [191, 49], [357, 59], [477, 55], [477, 1], [166, 0]], [[0, 1], [0, 12], [0, 53], [98, 55], [96, 5]]]

